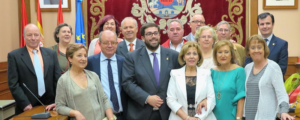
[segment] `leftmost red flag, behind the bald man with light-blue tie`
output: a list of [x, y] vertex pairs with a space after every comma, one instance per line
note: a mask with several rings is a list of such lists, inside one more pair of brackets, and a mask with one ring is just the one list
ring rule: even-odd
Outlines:
[[25, 2], [22, 0], [22, 22], [21, 22], [21, 41], [20, 41], [20, 47], [23, 47], [26, 45], [24, 38], [23, 38], [23, 29], [28, 24], [27, 22], [27, 13], [25, 8]]

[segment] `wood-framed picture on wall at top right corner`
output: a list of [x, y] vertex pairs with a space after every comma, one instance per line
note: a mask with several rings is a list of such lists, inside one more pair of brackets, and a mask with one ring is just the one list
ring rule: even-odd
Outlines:
[[262, 0], [262, 9], [297, 9], [298, 0]]

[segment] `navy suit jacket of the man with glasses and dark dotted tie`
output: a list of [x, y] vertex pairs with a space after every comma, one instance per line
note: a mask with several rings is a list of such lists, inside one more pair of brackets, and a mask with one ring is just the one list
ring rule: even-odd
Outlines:
[[[100, 55], [101, 55], [101, 52], [96, 55], [92, 55], [92, 56], [88, 57], [88, 64], [86, 65], [85, 69], [95, 72], [99, 76], [99, 79], [101, 81]], [[123, 65], [124, 57], [116, 54], [116, 58], [117, 58], [117, 65], [118, 65], [118, 76], [119, 76], [119, 87], [120, 87], [119, 92], [121, 95], [123, 114], [126, 116], [125, 113], [127, 113], [128, 96], [125, 93], [125, 91], [123, 90], [122, 85], [121, 85], [122, 84], [122, 65]], [[107, 66], [102, 66], [102, 67], [107, 67]]]

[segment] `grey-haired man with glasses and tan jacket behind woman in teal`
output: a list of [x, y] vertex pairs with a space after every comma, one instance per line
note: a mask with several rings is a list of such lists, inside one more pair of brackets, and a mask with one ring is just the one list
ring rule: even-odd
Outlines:
[[[231, 30], [230, 30], [230, 25], [227, 21], [221, 21], [217, 24], [217, 36], [218, 36], [218, 41], [229, 41], [230, 36], [231, 36]], [[216, 42], [217, 43], [217, 42]], [[245, 62], [245, 52], [244, 52], [244, 47], [241, 46], [240, 44], [233, 43], [233, 49], [234, 49], [234, 54], [235, 54], [235, 63], [238, 64], [241, 67], [244, 67], [244, 62]]]

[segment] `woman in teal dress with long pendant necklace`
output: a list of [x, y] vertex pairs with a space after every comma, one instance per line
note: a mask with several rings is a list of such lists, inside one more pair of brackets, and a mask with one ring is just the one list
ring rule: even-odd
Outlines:
[[233, 44], [229, 41], [217, 42], [213, 58], [217, 65], [210, 69], [216, 95], [213, 112], [217, 120], [242, 119], [246, 74], [243, 67], [235, 64]]

